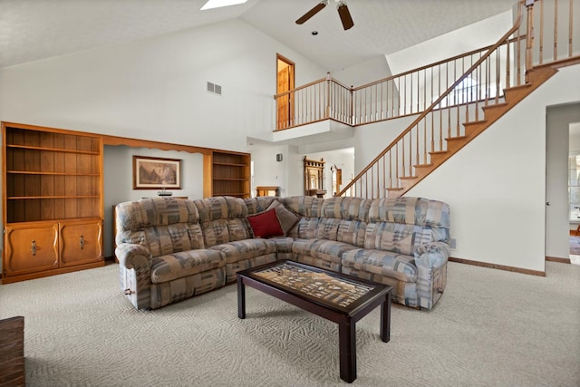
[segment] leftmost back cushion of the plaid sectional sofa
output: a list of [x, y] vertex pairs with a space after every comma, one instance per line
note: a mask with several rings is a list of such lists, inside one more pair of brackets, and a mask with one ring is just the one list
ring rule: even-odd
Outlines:
[[198, 208], [180, 198], [143, 198], [117, 205], [115, 241], [134, 243], [163, 256], [204, 248]]

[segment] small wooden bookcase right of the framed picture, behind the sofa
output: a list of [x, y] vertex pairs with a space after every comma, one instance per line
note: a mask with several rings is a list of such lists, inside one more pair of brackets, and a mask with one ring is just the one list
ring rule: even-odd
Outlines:
[[250, 154], [212, 151], [212, 195], [250, 197]]

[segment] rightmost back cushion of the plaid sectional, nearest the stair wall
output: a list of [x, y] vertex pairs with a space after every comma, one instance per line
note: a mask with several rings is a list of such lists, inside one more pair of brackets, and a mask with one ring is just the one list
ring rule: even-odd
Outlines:
[[449, 243], [449, 205], [426, 198], [372, 200], [364, 247], [412, 255], [433, 241]]

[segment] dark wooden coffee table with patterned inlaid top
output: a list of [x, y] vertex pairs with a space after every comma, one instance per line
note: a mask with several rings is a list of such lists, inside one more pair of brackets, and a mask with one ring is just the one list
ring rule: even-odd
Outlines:
[[298, 306], [338, 324], [341, 379], [356, 379], [356, 328], [381, 305], [381, 339], [391, 334], [391, 286], [376, 284], [292, 261], [277, 261], [237, 272], [237, 316], [246, 318], [246, 287]]

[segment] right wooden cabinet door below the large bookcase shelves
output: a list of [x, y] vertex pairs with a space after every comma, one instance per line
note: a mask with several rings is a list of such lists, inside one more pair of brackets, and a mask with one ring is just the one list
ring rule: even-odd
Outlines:
[[61, 267], [102, 260], [102, 219], [60, 224]]

